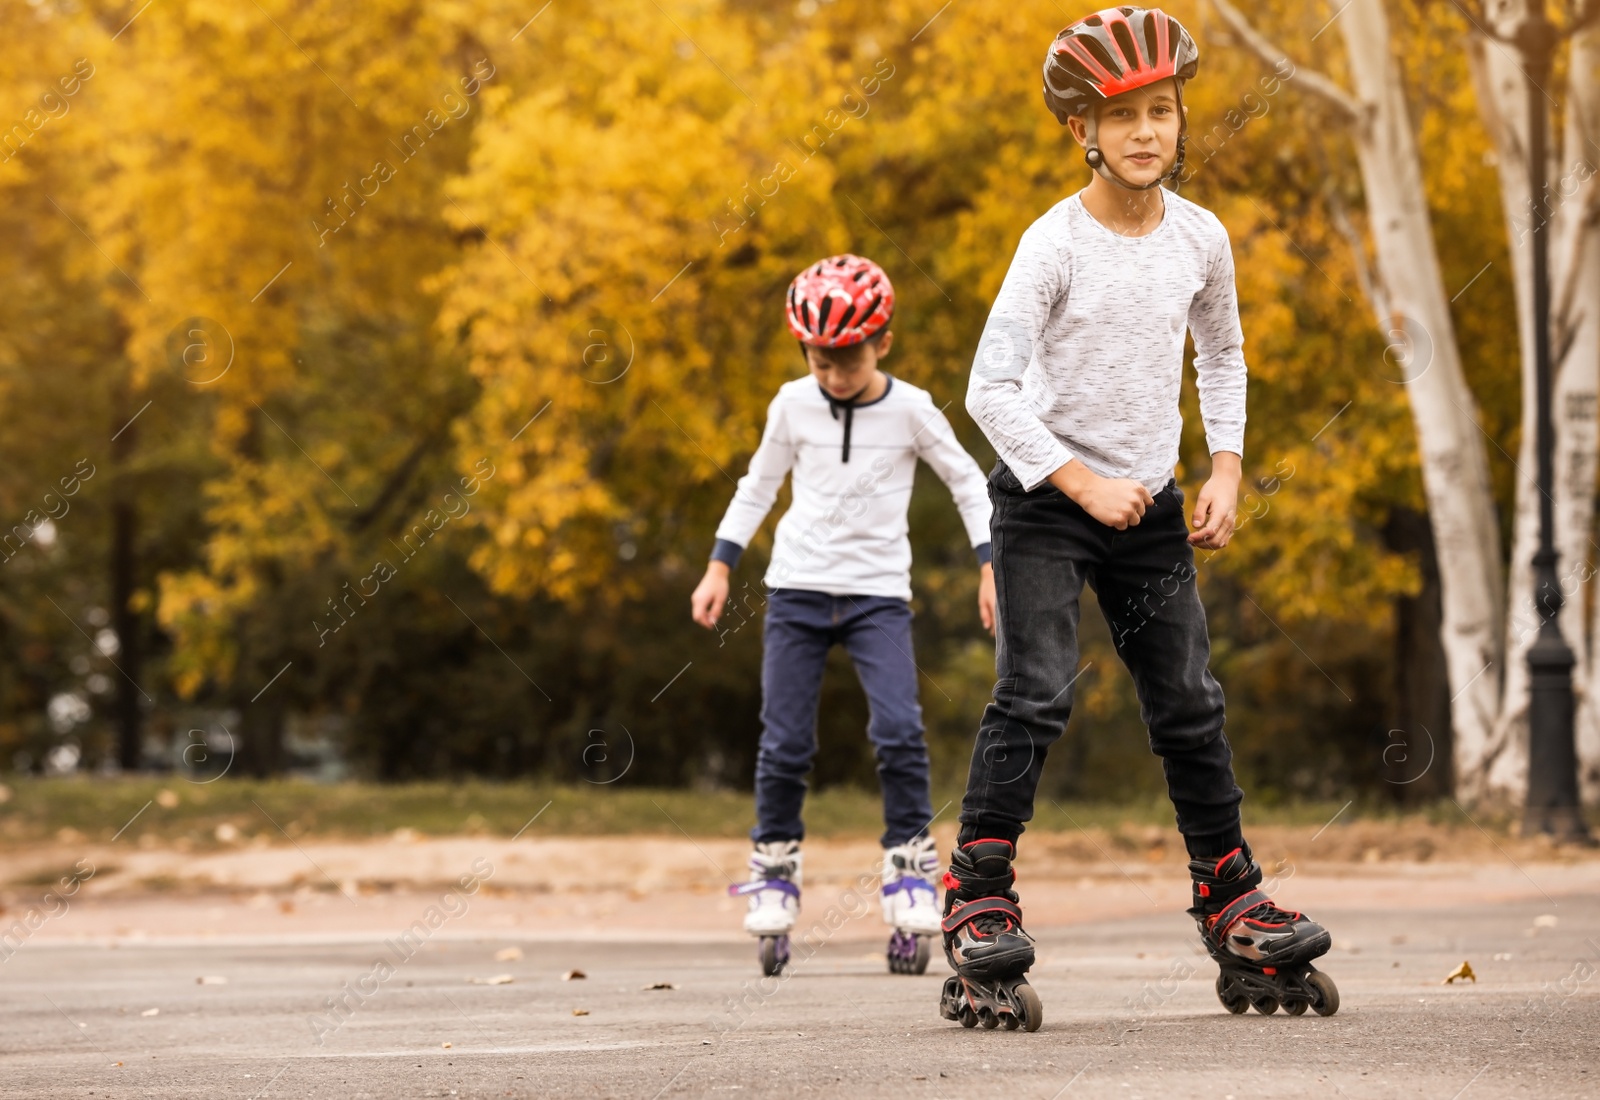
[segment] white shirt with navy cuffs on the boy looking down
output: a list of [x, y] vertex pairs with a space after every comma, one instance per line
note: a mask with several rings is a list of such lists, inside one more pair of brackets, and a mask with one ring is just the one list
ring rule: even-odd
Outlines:
[[794, 504], [773, 539], [768, 588], [910, 600], [910, 505], [917, 459], [950, 488], [962, 523], [987, 560], [989, 483], [928, 395], [890, 377], [877, 401], [845, 419], [806, 376], [786, 382], [766, 409], [762, 444], [717, 528], [712, 558], [736, 564], [794, 472]]

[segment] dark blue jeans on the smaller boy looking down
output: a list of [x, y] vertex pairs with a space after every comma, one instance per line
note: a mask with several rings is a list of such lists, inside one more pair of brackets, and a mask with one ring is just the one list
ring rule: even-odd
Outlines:
[[888, 596], [768, 593], [762, 656], [762, 745], [755, 756], [757, 843], [802, 839], [806, 774], [816, 756], [816, 710], [827, 651], [842, 644], [867, 692], [867, 737], [883, 787], [883, 846], [928, 828], [928, 743], [922, 737], [910, 604]]

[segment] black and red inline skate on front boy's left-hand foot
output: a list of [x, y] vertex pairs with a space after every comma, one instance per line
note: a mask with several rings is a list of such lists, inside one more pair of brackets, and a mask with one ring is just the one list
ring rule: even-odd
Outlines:
[[950, 854], [944, 875], [941, 929], [955, 977], [944, 982], [939, 1015], [963, 1028], [1038, 1031], [1045, 1022], [1045, 1006], [1024, 977], [1034, 966], [1034, 937], [1022, 931], [1011, 889], [1014, 852], [1011, 841], [970, 841]]

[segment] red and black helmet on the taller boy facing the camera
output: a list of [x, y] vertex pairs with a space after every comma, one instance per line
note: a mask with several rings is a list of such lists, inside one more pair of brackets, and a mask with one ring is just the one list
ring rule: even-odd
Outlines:
[[1168, 77], [1195, 75], [1200, 50], [1160, 8], [1106, 8], [1056, 35], [1045, 58], [1045, 104], [1066, 125], [1090, 104]]

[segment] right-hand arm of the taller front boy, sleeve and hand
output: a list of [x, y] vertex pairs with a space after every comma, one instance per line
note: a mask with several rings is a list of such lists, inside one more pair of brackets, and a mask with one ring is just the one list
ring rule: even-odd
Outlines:
[[1245, 331], [1238, 323], [1234, 288], [1234, 253], [1227, 232], [1218, 227], [1218, 246], [1205, 286], [1189, 307], [1189, 331], [1195, 339], [1195, 376], [1200, 385], [1200, 419], [1211, 478], [1195, 499], [1189, 542], [1221, 550], [1234, 534], [1238, 513], [1240, 464], [1245, 454]]

